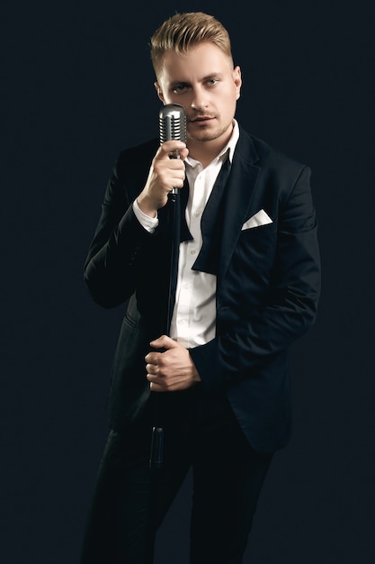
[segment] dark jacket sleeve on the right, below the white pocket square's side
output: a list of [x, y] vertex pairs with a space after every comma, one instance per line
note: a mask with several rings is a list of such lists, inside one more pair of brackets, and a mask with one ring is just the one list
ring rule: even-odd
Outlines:
[[266, 303], [247, 314], [219, 305], [217, 336], [190, 351], [205, 387], [251, 377], [314, 323], [320, 260], [309, 178], [310, 169], [302, 168], [280, 205], [272, 289]]

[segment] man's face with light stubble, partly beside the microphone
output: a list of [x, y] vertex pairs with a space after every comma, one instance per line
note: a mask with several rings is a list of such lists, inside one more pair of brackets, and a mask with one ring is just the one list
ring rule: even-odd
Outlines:
[[187, 55], [167, 51], [157, 94], [164, 104], [181, 104], [187, 114], [188, 146], [224, 147], [233, 128], [241, 72], [216, 45], [205, 42]]

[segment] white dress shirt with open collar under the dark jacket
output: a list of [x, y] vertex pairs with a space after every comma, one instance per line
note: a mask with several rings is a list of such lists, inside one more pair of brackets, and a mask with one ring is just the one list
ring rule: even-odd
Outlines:
[[[201, 250], [201, 216], [223, 162], [227, 158], [230, 162], [233, 159], [238, 137], [238, 124], [235, 120], [228, 144], [206, 168], [203, 168], [198, 160], [191, 157], [185, 159], [186, 177], [189, 182], [189, 199], [185, 215], [192, 240], [180, 243], [170, 337], [187, 349], [205, 344], [215, 337], [216, 276], [192, 270], [192, 265]], [[133, 209], [138, 221], [149, 232], [153, 232], [158, 224], [157, 217], [150, 218], [143, 214], [137, 200], [133, 204]]]

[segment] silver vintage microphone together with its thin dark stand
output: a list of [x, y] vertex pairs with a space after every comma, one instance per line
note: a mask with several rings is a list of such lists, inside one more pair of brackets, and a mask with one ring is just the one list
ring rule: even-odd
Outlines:
[[[159, 139], [160, 144], [165, 141], [183, 141], [186, 143], [187, 132], [186, 132], [186, 112], [183, 105], [180, 104], [167, 104], [164, 105], [159, 112]], [[180, 153], [175, 150], [169, 156], [170, 159], [180, 159]], [[171, 298], [172, 298], [172, 286], [173, 286], [173, 275], [174, 275], [174, 253], [175, 253], [175, 229], [176, 229], [176, 216], [179, 214], [179, 190], [178, 188], [173, 188], [168, 195], [168, 200], [170, 202], [168, 223], [170, 226], [171, 234], [171, 260], [169, 269], [169, 282], [168, 282], [168, 293], [167, 293], [167, 307], [166, 307], [166, 317], [165, 317], [165, 334], [169, 332], [169, 323], [171, 319]], [[163, 467], [163, 450], [164, 450], [164, 431], [163, 427], [159, 425], [159, 411], [160, 411], [160, 400], [159, 395], [156, 395], [156, 426], [152, 430], [152, 441], [151, 441], [151, 451], [149, 458], [150, 468], [162, 468]]]

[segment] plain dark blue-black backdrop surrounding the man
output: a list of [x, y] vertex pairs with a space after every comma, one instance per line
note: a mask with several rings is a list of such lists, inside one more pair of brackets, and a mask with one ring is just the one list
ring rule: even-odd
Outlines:
[[[216, 15], [243, 71], [237, 118], [313, 170], [323, 294], [293, 352], [294, 434], [246, 562], [373, 564], [371, 3], [3, 2], [1, 558], [75, 564], [107, 434], [121, 308], [82, 269], [117, 153], [157, 134], [148, 39], [174, 11]], [[156, 564], [186, 564], [189, 480]]]

